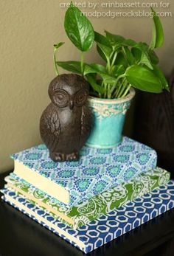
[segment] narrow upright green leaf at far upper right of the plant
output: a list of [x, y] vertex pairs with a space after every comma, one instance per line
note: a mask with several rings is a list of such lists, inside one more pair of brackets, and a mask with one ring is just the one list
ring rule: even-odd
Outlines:
[[153, 12], [153, 35], [150, 43], [150, 49], [161, 47], [164, 43], [164, 32], [161, 21], [156, 15], [156, 12], [151, 8]]

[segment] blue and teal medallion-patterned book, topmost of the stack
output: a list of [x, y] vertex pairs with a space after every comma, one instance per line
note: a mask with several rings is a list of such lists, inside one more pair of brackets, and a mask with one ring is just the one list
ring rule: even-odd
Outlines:
[[73, 206], [156, 167], [156, 151], [123, 137], [116, 148], [83, 147], [77, 162], [53, 162], [45, 145], [12, 155], [14, 173]]

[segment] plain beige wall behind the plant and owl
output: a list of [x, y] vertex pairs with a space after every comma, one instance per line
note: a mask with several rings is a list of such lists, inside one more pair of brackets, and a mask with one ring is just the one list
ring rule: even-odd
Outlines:
[[[78, 59], [79, 53], [63, 30], [65, 9], [60, 8], [60, 2], [63, 1], [0, 0], [0, 172], [13, 168], [10, 153], [41, 142], [39, 118], [49, 103], [47, 89], [55, 76], [52, 45], [66, 42], [59, 60]], [[169, 2], [168, 10], [174, 13], [173, 1]], [[150, 18], [90, 19], [100, 32], [105, 29], [138, 41], [150, 41]], [[162, 22], [166, 39], [158, 53], [164, 72], [169, 74], [174, 57], [173, 18], [162, 18]], [[94, 49], [86, 60], [100, 61]]]

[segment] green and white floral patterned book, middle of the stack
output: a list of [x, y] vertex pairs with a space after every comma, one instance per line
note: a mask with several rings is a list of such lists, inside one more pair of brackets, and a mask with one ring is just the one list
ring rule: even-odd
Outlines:
[[22, 182], [16, 179], [14, 175], [7, 176], [5, 180], [8, 189], [15, 190], [32, 203], [43, 207], [46, 212], [51, 213], [55, 218], [59, 218], [75, 229], [121, 207], [127, 201], [133, 201], [137, 197], [150, 193], [156, 187], [167, 184], [170, 180], [170, 173], [156, 167], [154, 170], [140, 174], [128, 183], [122, 183], [122, 185], [70, 208], [58, 204], [58, 201], [54, 198], [50, 198], [46, 193], [32, 187], [26, 181]]

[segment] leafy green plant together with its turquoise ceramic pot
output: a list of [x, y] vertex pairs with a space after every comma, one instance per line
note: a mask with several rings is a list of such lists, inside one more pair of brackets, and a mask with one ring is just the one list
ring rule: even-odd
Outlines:
[[[58, 61], [56, 52], [63, 43], [55, 44], [54, 65], [82, 75], [90, 84], [89, 106], [94, 114], [94, 125], [87, 145], [111, 148], [122, 139], [125, 113], [135, 89], [152, 93], [169, 90], [167, 80], [157, 65], [159, 58], [154, 49], [164, 42], [161, 21], [153, 12], [153, 36], [150, 46], [144, 42], [125, 39], [105, 31], [94, 31], [91, 22], [71, 2], [66, 10], [64, 27], [74, 46], [80, 50], [80, 61]], [[86, 63], [83, 52], [97, 45], [97, 52], [104, 64]]]

